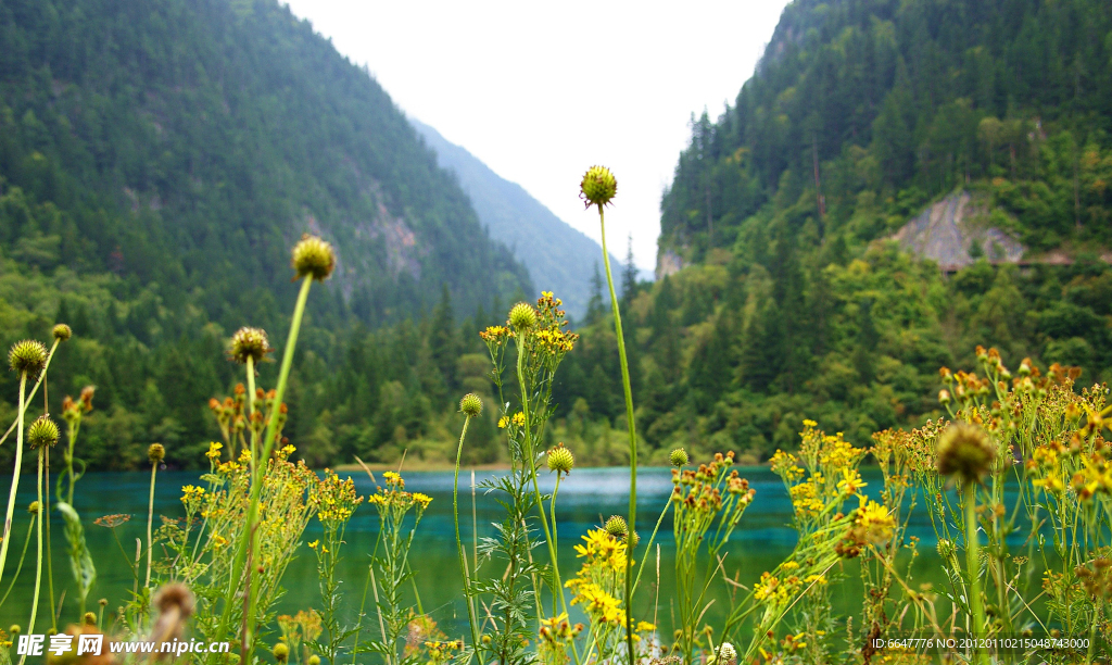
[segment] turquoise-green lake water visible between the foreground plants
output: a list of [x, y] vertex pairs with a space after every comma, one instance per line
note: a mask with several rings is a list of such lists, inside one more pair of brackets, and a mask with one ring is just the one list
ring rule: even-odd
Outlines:
[[[795, 532], [786, 526], [791, 520], [792, 508], [780, 478], [772, 474], [767, 467], [741, 468], [738, 470], [749, 479], [757, 494], [754, 504], [745, 513], [742, 528], [734, 532], [728, 547], [726, 569], [732, 577], [736, 574], [736, 579], [741, 584], [749, 585], [759, 578], [762, 572], [776, 566], [791, 552], [795, 544]], [[476, 483], [481, 483], [485, 478], [494, 475], [496, 473], [477, 473], [475, 475]], [[155, 497], [156, 526], [158, 525], [158, 515], [171, 517], [182, 515], [179, 500], [180, 488], [182, 485], [196, 484], [197, 476], [198, 474], [195, 472], [159, 474]], [[353, 473], [351, 476], [361, 494], [374, 492], [374, 484], [366, 474]], [[413, 472], [405, 474], [405, 477], [406, 489], [423, 492], [434, 497], [433, 504], [426, 512], [417, 532], [414, 549], [410, 554], [421, 605], [449, 635], [461, 635], [466, 631], [467, 615], [460, 599], [461, 583], [455, 552], [455, 528], [451, 518], [453, 475], [450, 472]], [[664, 468], [642, 469], [638, 474], [637, 530], [643, 542], [647, 540], [661, 509], [665, 506], [672, 492], [671, 478], [669, 470]], [[866, 493], [880, 490], [882, 482], [878, 474], [865, 472], [865, 479], [870, 482]], [[108, 598], [109, 611], [111, 611], [130, 595], [132, 578], [128, 558], [135, 556], [136, 538], [145, 538], [149, 480], [150, 475], [145, 473], [92, 473], [78, 483], [77, 509], [86, 524], [88, 544], [92, 550], [98, 572], [97, 585], [90, 594], [90, 605], [93, 605], [97, 598], [105, 597]], [[470, 473], [461, 472], [459, 480], [460, 532], [468, 550], [470, 550], [474, 530], [471, 528]], [[554, 477], [545, 472], [542, 474], [540, 480], [542, 492], [552, 492]], [[576, 566], [572, 545], [578, 542], [590, 526], [602, 524], [612, 514], [625, 515], [628, 512], [628, 485], [629, 472], [623, 468], [576, 469], [566, 480], [560, 483], [557, 522], [560, 568], [564, 570], [565, 578], [570, 577], [573, 568]], [[0, 496], [7, 496], [7, 487], [6, 483]], [[19, 495], [19, 509], [17, 510], [16, 524], [12, 527], [12, 543], [8, 555], [8, 572], [2, 584], [4, 588], [7, 588], [10, 576], [14, 573], [19, 549], [22, 547], [27, 533], [30, 516], [27, 514], [26, 507], [34, 499], [33, 476], [23, 478], [20, 483]], [[494, 528], [490, 525], [503, 516], [502, 507], [495, 498], [496, 494], [487, 495], [481, 489], [476, 490], [475, 514], [479, 537], [493, 536]], [[92, 524], [97, 517], [116, 513], [131, 515], [131, 522], [116, 529], [122, 549], [128, 552], [127, 555], [121, 552], [120, 545], [112, 538], [109, 529]], [[62, 623], [68, 623], [77, 619], [77, 606], [73, 601], [75, 587], [69, 562], [63, 550], [66, 544], [62, 537], [60, 516], [51, 515], [51, 522], [54, 587], [56, 593], [61, 593], [62, 588], [67, 589]], [[359, 611], [367, 580], [367, 566], [370, 553], [375, 547], [377, 529], [378, 518], [375, 509], [366, 504], [360, 506], [348, 527], [345, 558], [339, 565], [339, 577], [344, 580], [341, 593], [345, 594], [353, 616]], [[305, 534], [305, 540], [315, 539], [319, 530], [318, 524], [310, 524]], [[934, 533], [922, 510], [916, 510], [909, 535], [915, 535], [922, 539], [921, 555], [915, 560], [916, 575], [937, 579], [939, 566], [933, 547]], [[638, 593], [634, 614], [649, 621], [656, 617], [655, 623], [662, 624], [664, 627], [672, 623], [668, 599], [672, 597], [671, 590], [674, 586], [672, 523], [668, 518], [665, 518], [664, 524], [662, 524], [656, 542], [661, 545], [659, 603], [654, 609], [654, 599], [657, 597], [655, 588], [657, 548], [654, 545], [651, 552], [653, 558], [649, 560], [643, 578], [643, 584], [645, 582], [648, 584]], [[534, 550], [534, 556], [540, 559], [547, 558], [546, 548], [538, 547]], [[487, 564], [484, 572], [492, 574], [496, 567], [498, 567], [497, 564]], [[857, 574], [851, 567], [852, 565], [847, 566], [845, 575], [852, 583], [857, 578]], [[28, 560], [23, 565], [22, 574], [12, 596], [0, 608], [0, 625], [26, 624], [29, 601], [33, 590], [33, 568], [34, 545], [32, 543], [28, 550]], [[500, 574], [500, 572], [499, 568], [496, 574]], [[292, 614], [298, 609], [319, 606], [316, 559], [307, 547], [302, 546], [297, 558], [290, 564], [284, 578], [284, 586], [287, 593], [279, 602], [278, 611], [280, 613]], [[718, 588], [721, 586], [716, 585], [716, 594], [712, 598], [714, 604], [706, 614], [707, 619], [712, 622], [721, 621], [728, 607], [728, 598], [725, 589]], [[43, 587], [46, 587], [46, 582], [43, 582]], [[852, 585], [848, 592], [841, 594], [836, 601], [846, 605], [847, 608], [860, 607], [860, 598], [853, 597]], [[373, 601], [368, 598], [367, 612], [373, 612]]]

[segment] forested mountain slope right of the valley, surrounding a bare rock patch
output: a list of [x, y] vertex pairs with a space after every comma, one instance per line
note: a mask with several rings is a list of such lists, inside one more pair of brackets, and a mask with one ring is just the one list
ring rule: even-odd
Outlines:
[[[736, 102], [694, 121], [662, 201], [671, 276], [626, 324], [647, 443], [755, 459], [811, 417], [862, 445], [937, 415], [939, 367], [973, 369], [977, 344], [1112, 378], [1110, 131], [1103, 0], [792, 2]], [[885, 241], [963, 191], [1031, 267], [947, 278]], [[572, 363], [608, 357], [607, 336], [585, 331]], [[619, 404], [576, 385], [565, 404], [620, 428]]]

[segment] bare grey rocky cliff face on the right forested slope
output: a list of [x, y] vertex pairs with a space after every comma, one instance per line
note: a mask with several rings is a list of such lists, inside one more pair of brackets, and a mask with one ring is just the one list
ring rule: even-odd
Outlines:
[[943, 270], [957, 270], [980, 257], [1016, 264], [1025, 248], [992, 226], [986, 201], [967, 191], [952, 193], [927, 206], [903, 226], [893, 240], [916, 256], [936, 261]]

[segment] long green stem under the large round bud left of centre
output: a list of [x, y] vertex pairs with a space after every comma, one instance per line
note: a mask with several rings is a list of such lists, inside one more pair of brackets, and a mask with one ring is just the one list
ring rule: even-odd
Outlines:
[[[278, 370], [278, 385], [275, 388], [274, 408], [270, 409], [270, 419], [267, 424], [267, 434], [264, 439], [262, 454], [259, 456], [260, 460], [270, 459], [270, 454], [274, 451], [275, 439], [278, 437], [278, 414], [281, 410], [282, 397], [286, 395], [286, 384], [289, 381], [289, 370], [294, 364], [294, 349], [297, 346], [297, 335], [301, 329], [301, 319], [305, 317], [305, 304], [309, 299], [310, 286], [312, 286], [312, 278], [302, 278], [301, 290], [297, 295], [297, 305], [294, 306], [294, 319], [289, 326], [289, 338], [286, 340], [286, 350], [282, 353], [281, 368]], [[230, 575], [228, 590], [225, 594], [224, 615], [220, 618], [220, 625], [217, 628], [215, 639], [216, 642], [222, 641], [224, 636], [227, 635], [228, 624], [231, 621], [231, 607], [236, 601], [236, 592], [239, 589], [239, 576], [236, 575], [236, 572], [244, 570], [247, 585], [245, 593], [248, 597], [248, 604], [241, 642], [242, 649], [240, 662], [242, 663], [251, 663], [252, 652], [255, 651], [255, 645], [251, 639], [255, 633], [255, 617], [251, 616], [251, 614], [255, 611], [255, 602], [257, 598], [251, 588], [252, 570], [245, 569], [245, 564], [247, 563], [248, 548], [257, 546], [258, 544], [257, 527], [259, 522], [259, 499], [261, 496], [262, 483], [252, 476], [251, 495], [247, 506], [247, 524], [245, 525], [244, 533], [240, 535], [239, 544], [236, 548], [236, 558], [231, 567], [232, 573]], [[257, 552], [254, 547], [251, 550]]]

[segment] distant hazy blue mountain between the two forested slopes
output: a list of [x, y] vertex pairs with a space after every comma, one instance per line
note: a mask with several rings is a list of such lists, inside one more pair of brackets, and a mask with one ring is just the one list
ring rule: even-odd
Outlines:
[[[455, 171], [471, 205], [490, 231], [490, 237], [509, 247], [525, 264], [537, 289], [554, 291], [564, 299], [568, 314], [583, 316], [590, 299], [595, 266], [603, 271], [603, 251], [597, 242], [553, 215], [520, 185], [492, 171], [464, 148], [449, 143], [439, 132], [409, 119], [425, 142], [437, 153], [441, 168]], [[613, 238], [615, 247], [625, 238]], [[610, 255], [617, 275], [619, 261]]]

